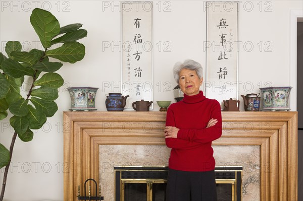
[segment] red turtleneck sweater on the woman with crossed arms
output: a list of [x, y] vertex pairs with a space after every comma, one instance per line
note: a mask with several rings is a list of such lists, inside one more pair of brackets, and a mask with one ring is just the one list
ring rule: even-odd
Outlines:
[[[211, 118], [218, 122], [209, 128]], [[221, 107], [217, 100], [199, 94], [187, 96], [169, 106], [166, 126], [180, 128], [177, 138], [166, 139], [172, 148], [169, 168], [182, 171], [211, 171], [215, 169], [212, 141], [222, 135]]]

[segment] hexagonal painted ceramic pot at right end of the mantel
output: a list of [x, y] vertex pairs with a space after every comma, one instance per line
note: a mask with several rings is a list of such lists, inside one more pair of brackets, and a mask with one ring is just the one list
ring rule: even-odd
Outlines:
[[292, 87], [260, 88], [262, 92], [261, 111], [288, 111], [289, 94]]

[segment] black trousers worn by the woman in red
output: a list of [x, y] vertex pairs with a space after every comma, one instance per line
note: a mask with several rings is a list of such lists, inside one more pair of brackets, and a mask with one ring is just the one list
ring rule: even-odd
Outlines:
[[169, 169], [166, 201], [216, 201], [215, 171], [187, 172]]

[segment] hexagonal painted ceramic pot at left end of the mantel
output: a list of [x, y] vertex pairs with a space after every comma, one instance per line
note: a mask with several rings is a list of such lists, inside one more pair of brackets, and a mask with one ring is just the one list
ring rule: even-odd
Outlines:
[[69, 87], [67, 89], [71, 97], [70, 111], [94, 111], [95, 97], [98, 88], [93, 87]]

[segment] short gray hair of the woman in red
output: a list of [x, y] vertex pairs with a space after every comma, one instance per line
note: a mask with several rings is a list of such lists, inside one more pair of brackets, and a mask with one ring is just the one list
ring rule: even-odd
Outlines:
[[187, 59], [183, 63], [176, 62], [176, 64], [174, 65], [174, 69], [173, 69], [174, 78], [178, 84], [179, 84], [179, 73], [182, 69], [195, 70], [199, 79], [203, 78], [203, 68], [201, 64], [194, 60]]

